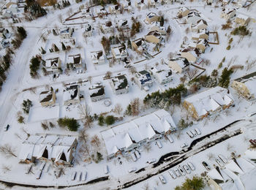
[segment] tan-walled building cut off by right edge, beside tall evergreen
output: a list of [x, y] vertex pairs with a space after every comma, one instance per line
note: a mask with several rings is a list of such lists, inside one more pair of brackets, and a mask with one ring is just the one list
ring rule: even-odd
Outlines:
[[237, 78], [231, 83], [231, 87], [236, 90], [239, 96], [243, 96], [248, 100], [256, 98], [256, 72], [252, 72], [244, 77]]

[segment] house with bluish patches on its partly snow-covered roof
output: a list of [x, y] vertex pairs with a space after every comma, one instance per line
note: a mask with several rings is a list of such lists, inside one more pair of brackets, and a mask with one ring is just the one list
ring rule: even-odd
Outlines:
[[145, 91], [148, 91], [148, 88], [153, 86], [151, 75], [146, 70], [135, 73], [135, 83], [140, 87], [140, 90], [144, 89]]

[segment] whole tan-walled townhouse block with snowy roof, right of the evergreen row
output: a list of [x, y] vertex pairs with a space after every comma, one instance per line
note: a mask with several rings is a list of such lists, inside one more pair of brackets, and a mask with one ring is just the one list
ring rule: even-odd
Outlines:
[[196, 120], [225, 110], [233, 104], [233, 96], [226, 88], [217, 86], [184, 99], [183, 106]]

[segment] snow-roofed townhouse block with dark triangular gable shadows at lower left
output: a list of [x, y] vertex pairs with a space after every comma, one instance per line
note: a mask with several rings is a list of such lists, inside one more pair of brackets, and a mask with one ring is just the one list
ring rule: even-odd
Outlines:
[[76, 137], [44, 134], [30, 135], [21, 145], [18, 159], [20, 163], [33, 163], [36, 160], [50, 161], [56, 165], [72, 165]]

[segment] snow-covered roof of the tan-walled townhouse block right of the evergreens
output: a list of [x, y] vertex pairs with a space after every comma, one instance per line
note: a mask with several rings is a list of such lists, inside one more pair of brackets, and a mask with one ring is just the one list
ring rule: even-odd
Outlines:
[[218, 110], [220, 107], [233, 103], [231, 94], [227, 94], [227, 89], [217, 86], [210, 88], [199, 94], [190, 96], [184, 101], [193, 104], [198, 116], [205, 115], [209, 111]]

